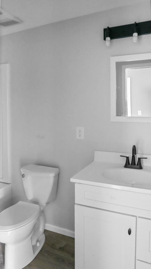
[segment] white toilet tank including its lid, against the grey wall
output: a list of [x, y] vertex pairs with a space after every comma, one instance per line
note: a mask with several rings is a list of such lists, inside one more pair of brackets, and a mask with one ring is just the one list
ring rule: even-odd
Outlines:
[[37, 203], [48, 203], [55, 199], [59, 169], [35, 164], [21, 168], [26, 196]]

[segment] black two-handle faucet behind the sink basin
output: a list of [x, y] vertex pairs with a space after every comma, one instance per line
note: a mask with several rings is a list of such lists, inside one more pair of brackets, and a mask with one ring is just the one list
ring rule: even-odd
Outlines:
[[132, 168], [132, 169], [143, 169], [142, 167], [142, 164], [141, 164], [141, 159], [147, 159], [145, 157], [138, 157], [138, 161], [137, 161], [137, 165], [135, 163], [135, 155], [136, 155], [136, 146], [133, 145], [133, 148], [132, 148], [132, 159], [131, 159], [131, 164], [129, 162], [129, 156], [123, 156], [123, 155], [120, 155], [121, 157], [126, 157], [126, 162], [125, 162], [125, 165], [124, 167], [125, 168]]

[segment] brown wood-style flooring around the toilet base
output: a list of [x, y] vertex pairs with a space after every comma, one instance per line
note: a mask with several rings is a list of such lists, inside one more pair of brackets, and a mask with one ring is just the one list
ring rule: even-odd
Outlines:
[[[74, 238], [48, 230], [44, 233], [44, 246], [24, 269], [74, 269]], [[0, 269], [3, 269], [3, 257], [4, 245], [0, 244]]]

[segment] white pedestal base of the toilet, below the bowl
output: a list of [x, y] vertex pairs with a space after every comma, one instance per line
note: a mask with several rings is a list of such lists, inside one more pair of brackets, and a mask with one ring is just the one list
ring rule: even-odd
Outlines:
[[21, 242], [5, 244], [5, 264], [4, 269], [22, 269], [29, 264], [45, 242], [44, 233], [38, 238], [39, 246], [32, 245], [31, 235]]

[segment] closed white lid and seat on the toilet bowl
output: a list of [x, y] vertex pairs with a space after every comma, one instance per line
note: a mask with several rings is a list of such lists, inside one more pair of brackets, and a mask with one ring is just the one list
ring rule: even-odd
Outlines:
[[17, 229], [32, 221], [40, 212], [37, 204], [19, 201], [0, 213], [0, 232]]

